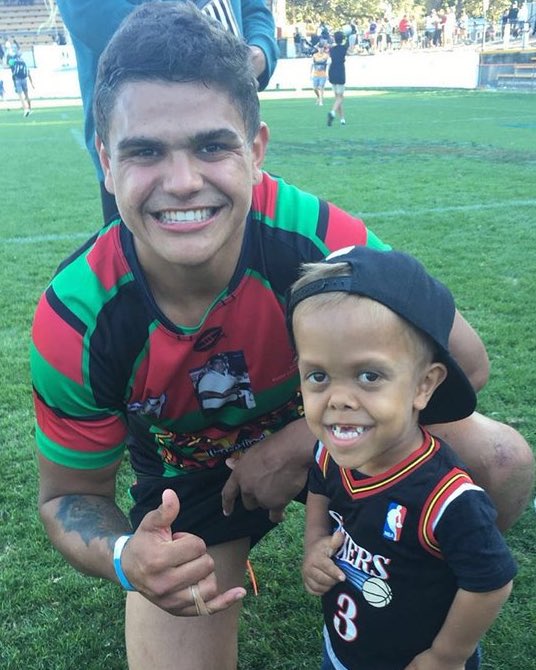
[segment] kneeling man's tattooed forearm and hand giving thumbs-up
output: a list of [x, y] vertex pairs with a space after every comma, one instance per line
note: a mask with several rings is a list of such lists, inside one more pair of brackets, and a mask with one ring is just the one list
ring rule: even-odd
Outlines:
[[[118, 582], [113, 565], [115, 541], [131, 534], [115, 503], [119, 463], [99, 470], [75, 470], [39, 455], [39, 511], [54, 546], [81, 572]], [[211, 613], [226, 609], [245, 595], [242, 588], [219, 594], [214, 561], [205, 543], [189, 533], [172, 533], [180, 509], [171, 490], [162, 505], [144, 517], [125, 545], [121, 567], [128, 581], [161, 609], [194, 616], [191, 586], [197, 585]]]

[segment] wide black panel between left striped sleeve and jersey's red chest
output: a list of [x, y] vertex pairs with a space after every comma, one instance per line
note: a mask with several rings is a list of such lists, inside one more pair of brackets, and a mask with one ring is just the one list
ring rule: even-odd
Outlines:
[[89, 343], [89, 377], [97, 407], [124, 409], [125, 392], [152, 321], [135, 282], [122, 286], [99, 312]]

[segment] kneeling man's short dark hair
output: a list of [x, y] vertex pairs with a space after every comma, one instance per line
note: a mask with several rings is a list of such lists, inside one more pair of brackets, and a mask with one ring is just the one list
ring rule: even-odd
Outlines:
[[257, 80], [247, 44], [191, 2], [149, 2], [120, 25], [103, 51], [93, 115], [106, 145], [117, 94], [127, 82], [200, 82], [227, 93], [252, 142], [260, 125]]

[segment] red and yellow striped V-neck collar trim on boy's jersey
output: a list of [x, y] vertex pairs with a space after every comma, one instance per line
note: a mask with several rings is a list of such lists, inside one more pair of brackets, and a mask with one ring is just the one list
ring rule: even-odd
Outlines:
[[380, 493], [381, 491], [398, 484], [406, 477], [409, 477], [409, 475], [420, 468], [423, 463], [430, 460], [439, 449], [439, 442], [430, 435], [430, 433], [424, 430], [423, 433], [424, 439], [421, 447], [401, 463], [398, 463], [381, 475], [367, 477], [365, 479], [356, 479], [350, 469], [339, 468], [341, 481], [348, 495], [350, 495], [353, 500], [359, 500], [360, 498], [366, 498], [367, 496]]

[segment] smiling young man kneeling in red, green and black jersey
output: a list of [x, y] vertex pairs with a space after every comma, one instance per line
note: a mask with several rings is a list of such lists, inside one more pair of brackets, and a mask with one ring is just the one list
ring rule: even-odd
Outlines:
[[[131, 670], [231, 670], [249, 548], [312, 459], [285, 291], [304, 261], [386, 245], [262, 171], [248, 47], [188, 3], [126, 19], [100, 61], [94, 116], [121, 218], [65, 261], [36, 311], [40, 512], [76, 568], [131, 591]], [[480, 387], [485, 350], [460, 315], [452, 351]], [[217, 354], [249, 384], [246, 407], [202, 407], [196, 382]], [[530, 450], [507, 427], [465, 421], [449, 441], [467, 461], [495, 444], [505, 454], [500, 470], [477, 470], [507, 524], [528, 495]], [[129, 519], [115, 502], [126, 449]]]

